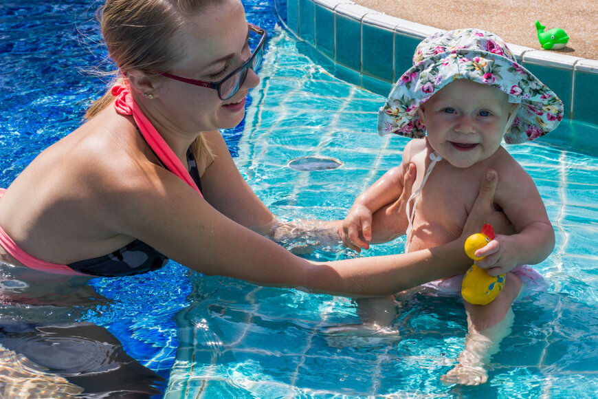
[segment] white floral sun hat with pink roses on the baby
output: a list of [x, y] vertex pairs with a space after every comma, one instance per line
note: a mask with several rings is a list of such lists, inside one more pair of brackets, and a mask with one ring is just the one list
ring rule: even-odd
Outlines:
[[458, 78], [496, 87], [509, 96], [509, 103], [520, 103], [513, 125], [505, 133], [509, 144], [544, 136], [563, 117], [562, 101], [517, 63], [499, 36], [478, 29], [451, 30], [419, 43], [413, 66], [397, 80], [380, 108], [379, 134], [425, 137], [419, 105]]

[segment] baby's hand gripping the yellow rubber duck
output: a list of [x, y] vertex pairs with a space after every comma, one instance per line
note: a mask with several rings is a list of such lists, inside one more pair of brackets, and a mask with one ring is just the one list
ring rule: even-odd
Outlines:
[[519, 257], [509, 245], [508, 235], [496, 235], [485, 247], [476, 250], [476, 257], [485, 257], [476, 261], [478, 268], [486, 269], [491, 276], [510, 272], [520, 266]]

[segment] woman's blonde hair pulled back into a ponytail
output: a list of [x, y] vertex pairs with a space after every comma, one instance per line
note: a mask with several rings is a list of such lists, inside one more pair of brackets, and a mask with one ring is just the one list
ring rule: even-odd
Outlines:
[[[223, 0], [107, 0], [100, 9], [102, 37], [110, 58], [121, 71], [167, 72], [179, 61], [180, 46], [174, 45], [188, 16]], [[125, 78], [118, 76], [102, 97], [93, 102], [86, 119], [113, 103], [111, 88]], [[213, 155], [201, 134], [191, 149], [199, 161]]]

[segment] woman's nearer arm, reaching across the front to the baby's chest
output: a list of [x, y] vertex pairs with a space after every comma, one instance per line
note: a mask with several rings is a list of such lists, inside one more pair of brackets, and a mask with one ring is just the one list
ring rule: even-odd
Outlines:
[[[406, 255], [310, 262], [223, 215], [168, 171], [158, 168], [157, 173], [159, 187], [119, 196], [120, 204], [114, 207], [120, 216], [119, 230], [204, 274], [350, 296], [375, 296], [448, 277], [469, 266], [463, 251], [465, 236], [445, 246]], [[496, 184], [485, 181], [483, 188], [486, 190], [480, 192], [468, 219], [476, 229], [487, 220], [485, 209], [490, 208]], [[210, 200], [216, 195], [207, 194]], [[229, 214], [236, 212], [224, 209]]]

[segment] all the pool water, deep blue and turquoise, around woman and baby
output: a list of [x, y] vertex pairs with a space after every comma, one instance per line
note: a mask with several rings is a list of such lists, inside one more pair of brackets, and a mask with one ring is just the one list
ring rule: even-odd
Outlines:
[[[380, 138], [384, 98], [333, 78], [276, 22], [267, 1], [245, 1], [248, 19], [272, 34], [243, 125], [223, 134], [247, 182], [283, 219], [342, 218], [355, 197], [395, 166], [407, 140]], [[0, 10], [0, 186], [47, 145], [73, 130], [103, 91], [85, 73], [103, 61], [97, 2], [5, 1]], [[170, 262], [137, 277], [93, 279], [85, 301], [52, 308], [1, 304], [2, 319], [91, 321], [168, 379], [166, 398], [587, 398], [598, 391], [597, 127], [563, 122], [546, 138], [508, 147], [538, 185], [557, 244], [538, 270], [551, 283], [513, 310], [512, 334], [480, 387], [445, 387], [467, 325], [455, 299], [404, 296], [391, 338], [331, 336], [357, 323], [337, 296], [263, 288], [190, 274]], [[302, 157], [342, 166], [297, 171]], [[283, 243], [291, 249], [311, 241]], [[365, 255], [400, 252], [403, 241]], [[318, 248], [309, 259], [357, 256]], [[284, 267], [284, 266], [281, 266]], [[33, 307], [35, 308], [35, 307]]]

